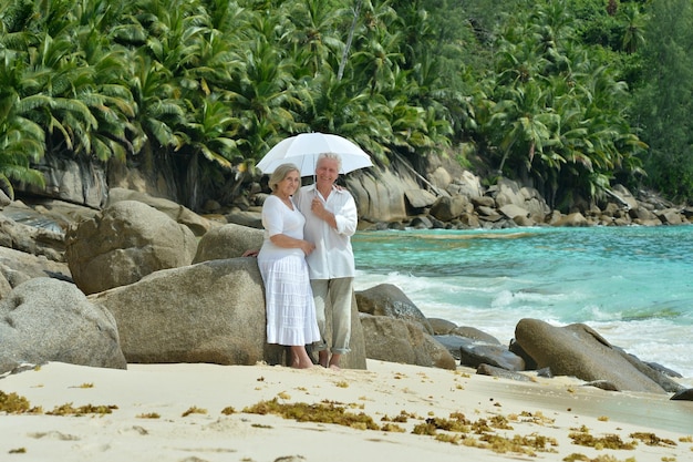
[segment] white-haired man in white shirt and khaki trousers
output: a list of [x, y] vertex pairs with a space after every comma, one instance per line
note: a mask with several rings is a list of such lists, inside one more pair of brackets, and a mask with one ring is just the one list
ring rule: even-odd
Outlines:
[[[356, 232], [356, 203], [349, 192], [334, 186], [341, 170], [338, 154], [320, 154], [316, 182], [303, 186], [294, 198], [306, 217], [304, 239], [316, 245], [307, 256], [316, 316], [322, 340], [314, 345], [323, 367], [339, 369], [340, 357], [350, 351], [351, 299], [355, 275], [351, 236]], [[328, 345], [327, 327], [332, 325]], [[332, 353], [330, 356], [330, 352]]]

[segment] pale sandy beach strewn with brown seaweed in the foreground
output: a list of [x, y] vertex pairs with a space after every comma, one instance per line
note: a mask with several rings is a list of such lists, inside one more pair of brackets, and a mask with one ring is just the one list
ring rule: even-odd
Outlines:
[[2, 461], [693, 461], [693, 402], [570, 378], [52, 362], [0, 391]]

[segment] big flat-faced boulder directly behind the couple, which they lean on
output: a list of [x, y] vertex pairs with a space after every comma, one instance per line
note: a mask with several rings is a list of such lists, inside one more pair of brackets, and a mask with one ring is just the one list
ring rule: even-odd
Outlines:
[[[277, 363], [276, 349], [266, 343], [263, 286], [255, 258], [161, 270], [90, 298], [113, 312], [128, 362]], [[352, 328], [351, 348], [341, 366], [365, 369], [360, 327]]]

